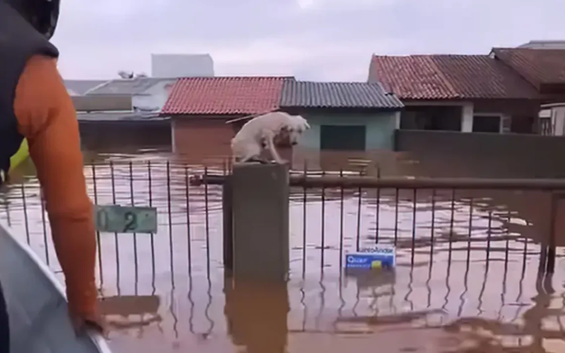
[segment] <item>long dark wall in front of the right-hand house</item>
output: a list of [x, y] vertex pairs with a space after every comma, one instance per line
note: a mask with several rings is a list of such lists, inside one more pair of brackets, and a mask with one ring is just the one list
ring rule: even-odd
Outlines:
[[397, 130], [396, 150], [412, 175], [565, 178], [562, 136]]

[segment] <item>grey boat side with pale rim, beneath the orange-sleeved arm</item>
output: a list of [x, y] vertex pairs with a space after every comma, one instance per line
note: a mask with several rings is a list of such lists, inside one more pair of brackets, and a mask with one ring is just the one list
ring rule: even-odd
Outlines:
[[4, 222], [0, 283], [10, 320], [10, 353], [111, 353], [99, 334], [76, 336], [62, 284]]

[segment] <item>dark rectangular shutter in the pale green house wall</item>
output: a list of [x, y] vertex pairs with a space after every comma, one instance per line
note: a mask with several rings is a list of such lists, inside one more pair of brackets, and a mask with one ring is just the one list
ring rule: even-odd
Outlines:
[[366, 130], [364, 125], [321, 125], [320, 149], [365, 151]]

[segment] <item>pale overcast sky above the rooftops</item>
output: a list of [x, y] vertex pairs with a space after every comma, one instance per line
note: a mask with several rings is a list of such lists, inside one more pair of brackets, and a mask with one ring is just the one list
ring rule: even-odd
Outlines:
[[210, 53], [215, 73], [367, 79], [371, 54], [488, 54], [565, 39], [563, 0], [62, 0], [64, 78], [150, 73], [151, 53]]

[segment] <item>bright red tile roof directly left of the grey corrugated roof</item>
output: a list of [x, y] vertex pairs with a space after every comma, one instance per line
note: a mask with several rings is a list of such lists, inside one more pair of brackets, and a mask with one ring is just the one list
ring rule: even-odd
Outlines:
[[163, 114], [257, 114], [279, 108], [284, 80], [291, 77], [179, 78]]

